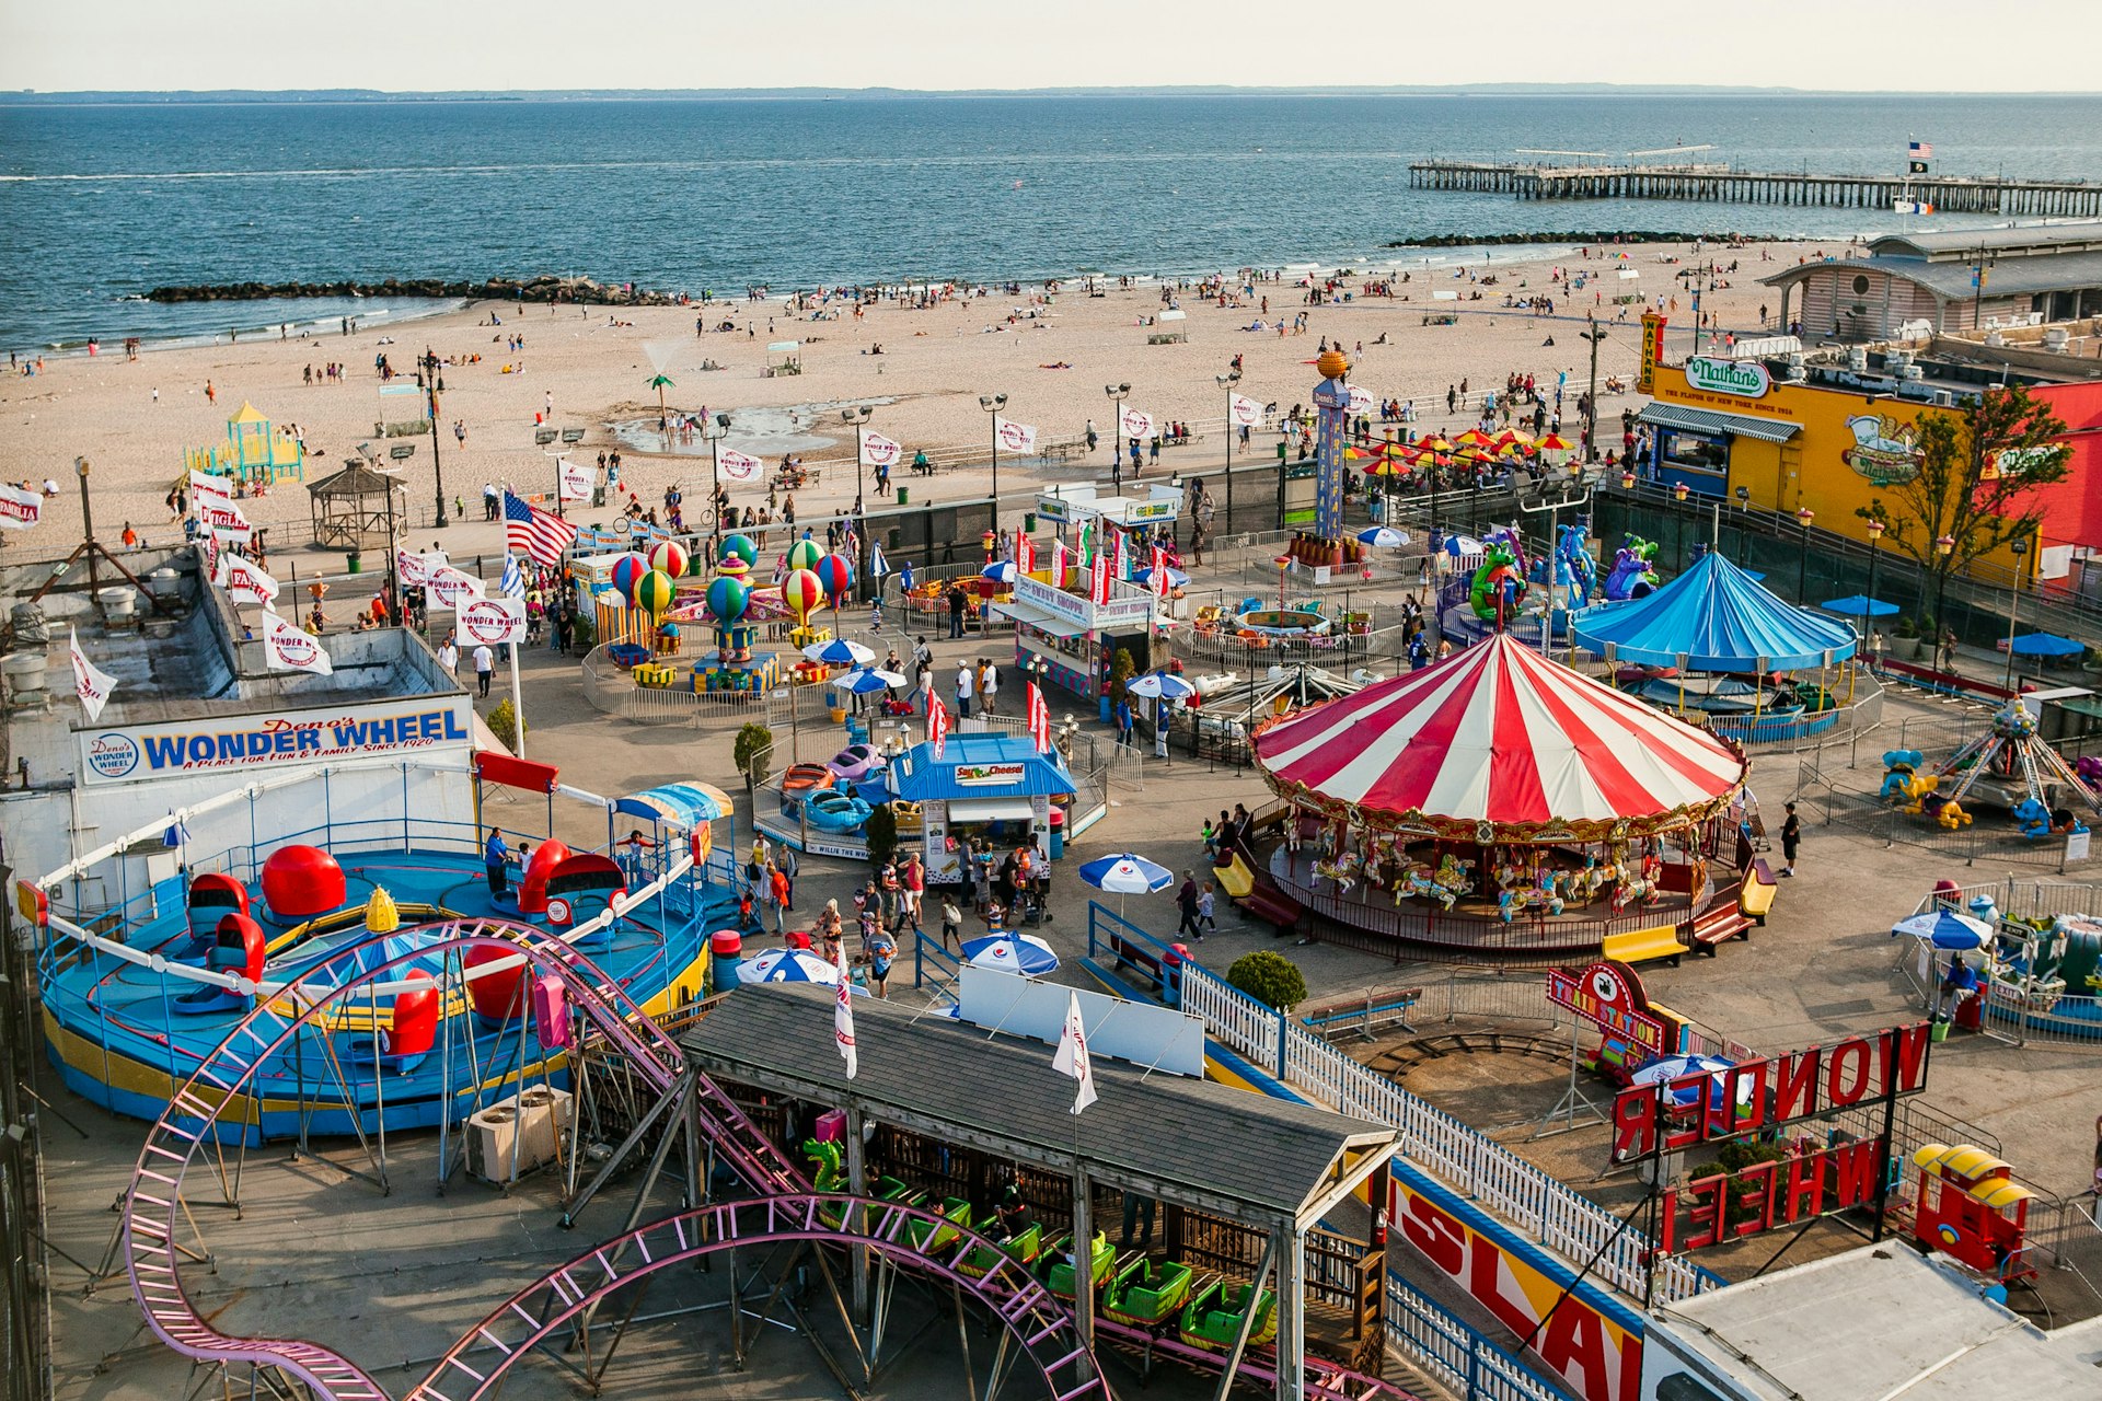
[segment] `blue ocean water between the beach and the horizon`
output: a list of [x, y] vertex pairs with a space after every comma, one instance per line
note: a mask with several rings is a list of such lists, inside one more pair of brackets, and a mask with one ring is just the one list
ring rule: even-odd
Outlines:
[[1850, 235], [1898, 216], [1415, 191], [1408, 162], [1713, 145], [1692, 160], [1900, 172], [1909, 139], [1934, 143], [1938, 174], [2102, 179], [2102, 97], [0, 107], [0, 347], [275, 332], [294, 315], [332, 321], [355, 309], [135, 300], [162, 284], [582, 273], [721, 294], [1364, 267], [1394, 256], [1387, 242], [1431, 235]]

